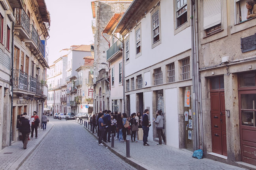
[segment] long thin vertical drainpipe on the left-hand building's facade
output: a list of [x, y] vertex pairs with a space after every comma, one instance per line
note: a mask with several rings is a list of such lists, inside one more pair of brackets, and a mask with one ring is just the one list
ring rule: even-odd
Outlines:
[[[14, 8], [13, 8], [14, 11]], [[13, 117], [13, 49], [14, 49], [14, 22], [12, 23], [12, 34], [11, 34], [11, 127], [10, 127], [10, 146], [12, 138], [12, 117]]]

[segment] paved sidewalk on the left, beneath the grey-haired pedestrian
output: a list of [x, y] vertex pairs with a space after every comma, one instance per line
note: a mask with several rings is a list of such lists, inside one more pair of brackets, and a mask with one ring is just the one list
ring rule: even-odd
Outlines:
[[17, 170], [19, 166], [27, 159], [27, 157], [40, 144], [45, 135], [51, 130], [53, 124], [47, 123], [47, 129], [38, 129], [38, 139], [35, 137], [28, 141], [27, 149], [23, 149], [22, 141], [12, 143], [0, 151], [0, 170]]

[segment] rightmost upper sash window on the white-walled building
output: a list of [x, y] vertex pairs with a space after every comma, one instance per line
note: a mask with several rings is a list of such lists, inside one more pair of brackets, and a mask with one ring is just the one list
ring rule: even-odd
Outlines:
[[187, 22], [187, 0], [176, 0], [177, 28]]

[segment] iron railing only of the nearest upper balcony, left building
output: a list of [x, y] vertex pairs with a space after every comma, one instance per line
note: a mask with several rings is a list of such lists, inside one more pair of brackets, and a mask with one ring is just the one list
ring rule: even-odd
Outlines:
[[21, 25], [24, 30], [30, 33], [30, 19], [23, 9], [15, 8], [15, 25]]

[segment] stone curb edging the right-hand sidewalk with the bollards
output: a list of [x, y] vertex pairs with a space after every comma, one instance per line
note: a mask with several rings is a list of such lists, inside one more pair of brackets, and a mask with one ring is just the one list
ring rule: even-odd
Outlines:
[[[77, 122], [79, 123], [79, 122]], [[80, 124], [80, 123], [79, 123]], [[83, 125], [83, 124], [81, 124]], [[85, 126], [83, 126], [92, 136], [95, 137], [95, 139], [98, 139], [96, 135], [93, 135], [90, 129], [87, 129]], [[126, 155], [122, 152], [120, 152], [117, 148], [111, 148], [111, 146], [107, 145], [105, 142], [102, 141], [102, 144], [104, 144], [107, 149], [109, 149], [112, 153], [115, 153], [118, 157], [120, 157], [122, 160], [124, 160], [126, 163], [132, 165], [134, 168], [137, 168], [138, 170], [154, 170], [153, 168], [137, 161], [136, 159], [132, 157], [126, 157]]]

